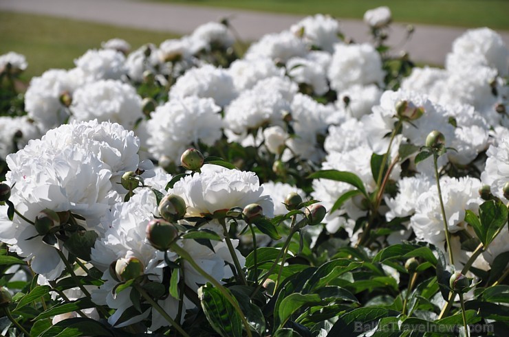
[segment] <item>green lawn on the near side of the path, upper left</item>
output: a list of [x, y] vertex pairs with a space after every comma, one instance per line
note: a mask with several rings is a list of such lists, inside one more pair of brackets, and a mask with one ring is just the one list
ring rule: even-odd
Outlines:
[[26, 56], [28, 69], [23, 80], [51, 68], [72, 68], [75, 58], [87, 49], [100, 48], [100, 43], [110, 38], [123, 38], [136, 49], [175, 37], [163, 32], [10, 12], [0, 12], [0, 36], [0, 55], [16, 51]]

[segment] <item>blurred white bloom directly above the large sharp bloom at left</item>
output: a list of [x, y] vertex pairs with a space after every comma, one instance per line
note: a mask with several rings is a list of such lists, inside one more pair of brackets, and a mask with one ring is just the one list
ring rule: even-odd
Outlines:
[[76, 121], [111, 121], [129, 130], [143, 117], [142, 99], [136, 89], [118, 80], [85, 84], [74, 93], [70, 109]]

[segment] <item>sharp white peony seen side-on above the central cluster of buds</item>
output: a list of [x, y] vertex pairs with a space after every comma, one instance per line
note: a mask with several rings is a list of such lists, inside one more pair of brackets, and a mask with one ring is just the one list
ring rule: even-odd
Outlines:
[[253, 172], [210, 166], [214, 165], [204, 165], [202, 173], [185, 176], [175, 183], [173, 189], [168, 190], [168, 194], [184, 198], [186, 216], [204, 216], [257, 203], [263, 208], [265, 216], [272, 217], [272, 200], [264, 194], [263, 185], [259, 185], [258, 177]]

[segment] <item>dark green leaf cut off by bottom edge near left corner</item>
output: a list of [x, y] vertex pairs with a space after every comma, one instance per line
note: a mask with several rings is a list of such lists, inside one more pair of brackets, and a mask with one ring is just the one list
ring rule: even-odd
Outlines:
[[105, 325], [95, 321], [91, 318], [67, 318], [63, 321], [56, 323], [53, 328], [63, 328], [58, 335], [52, 332], [55, 329], [47, 329], [41, 337], [49, 336], [114, 336]]

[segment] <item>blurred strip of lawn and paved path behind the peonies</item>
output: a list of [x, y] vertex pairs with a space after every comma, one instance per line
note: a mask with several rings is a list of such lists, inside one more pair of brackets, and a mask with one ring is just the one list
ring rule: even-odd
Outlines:
[[[246, 41], [317, 13], [340, 19], [346, 35], [367, 35], [362, 16], [380, 5], [391, 9], [394, 27], [415, 25], [415, 47], [425, 51], [425, 43], [437, 48], [429, 54], [450, 50], [451, 42], [444, 40], [440, 46], [440, 38], [459, 36], [467, 28], [490, 27], [503, 34], [506, 43], [509, 38], [508, 0], [0, 0], [0, 54], [24, 54], [28, 69], [23, 78], [30, 79], [50, 68], [74, 67], [75, 58], [110, 38], [123, 38], [134, 50], [191, 33], [197, 25], [221, 17], [228, 17]], [[428, 28], [433, 34], [418, 35]], [[416, 60], [440, 66], [442, 59], [440, 54]]]

